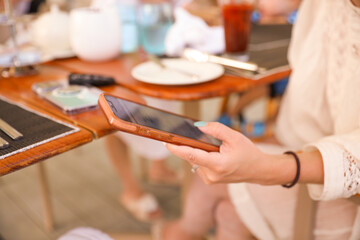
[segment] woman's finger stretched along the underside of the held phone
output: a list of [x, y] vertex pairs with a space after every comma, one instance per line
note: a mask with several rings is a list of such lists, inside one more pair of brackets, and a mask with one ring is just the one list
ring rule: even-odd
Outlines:
[[181, 159], [188, 161], [191, 165], [198, 165], [203, 167], [210, 167], [216, 163], [215, 152], [206, 152], [201, 149], [192, 148], [188, 146], [179, 146], [174, 144], [166, 144], [167, 149], [174, 155]]

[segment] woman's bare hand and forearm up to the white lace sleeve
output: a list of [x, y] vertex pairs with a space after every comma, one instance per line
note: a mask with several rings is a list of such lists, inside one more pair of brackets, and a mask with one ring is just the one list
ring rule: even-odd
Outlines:
[[[222, 140], [220, 152], [205, 152], [186, 146], [167, 144], [170, 152], [199, 166], [197, 173], [205, 183], [250, 182], [264, 185], [287, 184], [296, 174], [296, 162], [290, 155], [261, 152], [241, 133], [220, 123], [207, 123], [200, 130]], [[298, 154], [300, 182], [322, 183], [322, 157], [319, 151]]]

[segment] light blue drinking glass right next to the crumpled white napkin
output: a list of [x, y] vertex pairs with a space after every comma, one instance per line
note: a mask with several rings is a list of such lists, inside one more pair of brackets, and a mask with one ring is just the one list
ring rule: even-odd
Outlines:
[[168, 2], [143, 3], [138, 9], [140, 44], [147, 53], [165, 53], [165, 37], [173, 24], [172, 8]]

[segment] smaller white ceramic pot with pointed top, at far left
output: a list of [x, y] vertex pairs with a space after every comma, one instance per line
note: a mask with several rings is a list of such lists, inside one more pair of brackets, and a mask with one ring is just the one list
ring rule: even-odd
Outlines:
[[32, 42], [45, 53], [56, 55], [70, 51], [69, 16], [52, 5], [32, 23]]

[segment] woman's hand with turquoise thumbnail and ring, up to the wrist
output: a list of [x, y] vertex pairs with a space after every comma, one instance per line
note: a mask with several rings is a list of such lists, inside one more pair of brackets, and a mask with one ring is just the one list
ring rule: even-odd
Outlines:
[[197, 174], [207, 184], [258, 182], [265, 154], [248, 138], [225, 125], [209, 122], [199, 129], [222, 141], [219, 152], [206, 152], [188, 146], [167, 144], [174, 155], [197, 165]]

